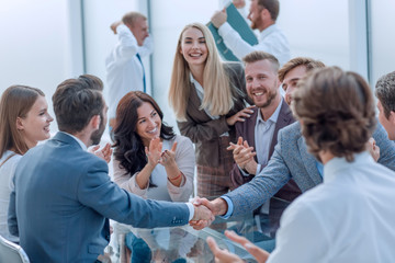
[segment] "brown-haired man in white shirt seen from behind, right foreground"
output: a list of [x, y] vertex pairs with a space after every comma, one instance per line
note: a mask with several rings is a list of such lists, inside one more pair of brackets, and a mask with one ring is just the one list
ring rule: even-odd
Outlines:
[[[271, 254], [233, 232], [227, 237], [259, 263], [391, 262], [395, 173], [366, 150], [376, 125], [369, 84], [358, 73], [324, 68], [303, 79], [293, 96], [308, 150], [324, 163], [324, 183], [286, 208]], [[216, 262], [244, 262], [207, 242]]]

